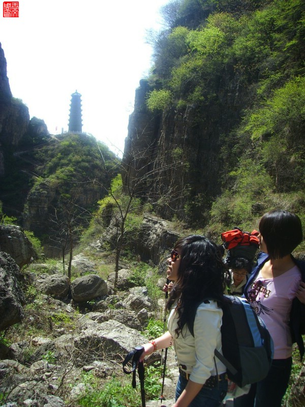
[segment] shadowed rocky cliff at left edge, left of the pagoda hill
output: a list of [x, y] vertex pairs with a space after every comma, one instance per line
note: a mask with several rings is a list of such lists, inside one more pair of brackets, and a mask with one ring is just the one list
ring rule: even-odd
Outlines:
[[9, 216], [21, 217], [30, 189], [34, 163], [26, 153], [35, 144], [46, 142], [47, 137], [44, 121], [30, 120], [27, 106], [12, 97], [7, 62], [0, 44], [0, 200]]

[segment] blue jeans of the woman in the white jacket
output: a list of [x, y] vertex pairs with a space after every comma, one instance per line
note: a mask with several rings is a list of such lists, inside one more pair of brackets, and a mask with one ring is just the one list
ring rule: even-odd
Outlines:
[[[182, 391], [186, 388], [187, 384], [187, 379], [180, 374], [176, 387], [176, 401]], [[213, 389], [202, 387], [197, 396], [189, 404], [189, 407], [218, 407], [225, 398], [227, 390], [228, 382], [226, 380], [219, 382], [218, 386]]]

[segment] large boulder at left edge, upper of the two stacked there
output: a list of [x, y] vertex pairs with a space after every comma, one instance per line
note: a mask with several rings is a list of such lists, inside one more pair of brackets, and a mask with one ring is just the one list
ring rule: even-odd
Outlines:
[[37, 257], [23, 229], [16, 225], [0, 225], [0, 251], [10, 254], [20, 268]]

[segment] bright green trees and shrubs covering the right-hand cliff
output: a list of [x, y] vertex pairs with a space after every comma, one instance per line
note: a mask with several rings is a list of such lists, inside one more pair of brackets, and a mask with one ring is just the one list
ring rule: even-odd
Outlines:
[[190, 181], [182, 218], [198, 224], [201, 217], [205, 231], [222, 231], [284, 208], [305, 225], [303, 2], [180, 0], [163, 16], [167, 28], [149, 37], [155, 63], [147, 107], [192, 106], [198, 126], [215, 117], [208, 125], [221, 146], [221, 193], [201, 205]]

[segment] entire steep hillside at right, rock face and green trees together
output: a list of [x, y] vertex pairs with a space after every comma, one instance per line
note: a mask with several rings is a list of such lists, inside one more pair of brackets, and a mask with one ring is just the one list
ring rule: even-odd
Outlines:
[[162, 14], [123, 158], [172, 163], [147, 188], [179, 188], [158, 214], [213, 237], [274, 208], [304, 222], [303, 2], [184, 0]]

